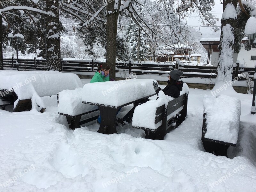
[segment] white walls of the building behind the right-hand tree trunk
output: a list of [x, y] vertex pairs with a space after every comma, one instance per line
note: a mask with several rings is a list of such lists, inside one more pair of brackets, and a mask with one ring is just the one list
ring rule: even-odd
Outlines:
[[[239, 60], [240, 65], [244, 65], [244, 67], [254, 68], [256, 61], [251, 60], [251, 56], [256, 56], [256, 49], [252, 48], [250, 51], [246, 51], [244, 47], [242, 47], [240, 52], [237, 55], [234, 55], [234, 63], [236, 63], [236, 60]], [[212, 52], [211, 64], [214, 66], [218, 66], [218, 58], [219, 52]]]

